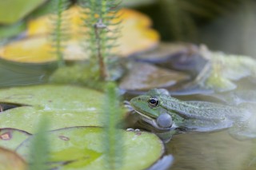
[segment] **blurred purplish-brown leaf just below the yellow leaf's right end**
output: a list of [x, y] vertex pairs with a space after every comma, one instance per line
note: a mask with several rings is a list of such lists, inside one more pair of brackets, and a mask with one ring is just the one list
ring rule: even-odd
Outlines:
[[136, 61], [146, 61], [169, 69], [186, 71], [195, 77], [209, 61], [198, 51], [198, 46], [194, 44], [162, 42], [157, 48], [136, 56]]

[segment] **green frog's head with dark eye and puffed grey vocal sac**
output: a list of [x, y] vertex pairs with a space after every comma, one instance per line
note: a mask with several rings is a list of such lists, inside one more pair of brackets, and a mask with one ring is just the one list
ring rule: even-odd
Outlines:
[[130, 105], [146, 121], [155, 128], [170, 130], [174, 128], [173, 121], [167, 110], [161, 106], [161, 95], [166, 95], [165, 89], [152, 89], [146, 95], [134, 97]]

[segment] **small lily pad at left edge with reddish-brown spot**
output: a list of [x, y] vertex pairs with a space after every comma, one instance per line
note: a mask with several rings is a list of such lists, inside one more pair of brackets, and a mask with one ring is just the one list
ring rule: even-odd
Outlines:
[[0, 146], [14, 150], [29, 136], [29, 133], [14, 128], [0, 129]]

